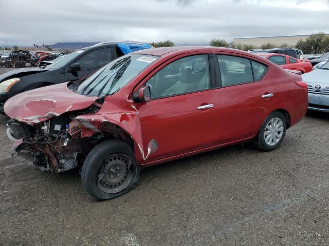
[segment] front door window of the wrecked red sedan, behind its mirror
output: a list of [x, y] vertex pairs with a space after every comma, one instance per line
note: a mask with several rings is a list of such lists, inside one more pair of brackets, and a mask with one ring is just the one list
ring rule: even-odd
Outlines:
[[145, 85], [151, 88], [151, 99], [209, 89], [208, 55], [175, 60], [153, 75]]

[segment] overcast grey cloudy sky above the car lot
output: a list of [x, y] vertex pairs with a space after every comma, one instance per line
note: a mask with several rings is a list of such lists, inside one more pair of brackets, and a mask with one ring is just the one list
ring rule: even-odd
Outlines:
[[0, 46], [329, 33], [329, 0], [0, 0]]

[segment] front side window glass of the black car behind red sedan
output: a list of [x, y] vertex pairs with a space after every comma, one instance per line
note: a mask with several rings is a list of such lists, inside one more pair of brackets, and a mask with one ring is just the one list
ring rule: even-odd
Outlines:
[[102, 67], [112, 60], [111, 50], [111, 47], [109, 47], [91, 51], [84, 56], [81, 56], [75, 61], [75, 63], [80, 64], [81, 70]]

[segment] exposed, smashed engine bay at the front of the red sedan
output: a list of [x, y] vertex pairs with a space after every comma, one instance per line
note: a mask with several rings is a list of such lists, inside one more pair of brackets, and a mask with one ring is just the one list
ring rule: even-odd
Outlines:
[[[97, 112], [92, 105], [87, 112]], [[102, 131], [81, 138], [83, 125], [75, 117], [86, 111], [67, 112], [49, 120], [27, 125], [11, 119], [7, 135], [16, 141], [15, 151], [20, 157], [32, 161], [35, 166], [53, 173], [64, 172], [82, 166], [90, 150], [104, 139], [117, 138], [128, 141], [117, 126], [104, 122]]]

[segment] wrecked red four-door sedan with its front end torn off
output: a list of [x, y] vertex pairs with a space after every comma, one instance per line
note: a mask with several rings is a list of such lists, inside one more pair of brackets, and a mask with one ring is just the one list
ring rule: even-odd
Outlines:
[[300, 75], [219, 47], [136, 51], [5, 104], [17, 154], [54, 173], [82, 166], [97, 200], [133, 189], [141, 167], [249, 140], [274, 150], [306, 110]]

